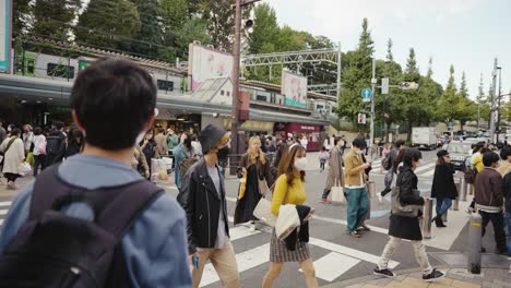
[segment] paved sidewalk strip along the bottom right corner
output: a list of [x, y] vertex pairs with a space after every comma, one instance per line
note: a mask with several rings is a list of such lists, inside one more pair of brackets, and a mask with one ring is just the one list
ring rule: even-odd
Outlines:
[[394, 287], [394, 288], [503, 288], [511, 287], [511, 273], [508, 269], [486, 268], [482, 275], [472, 275], [465, 268], [449, 268], [445, 266], [438, 267], [442, 272], [447, 272], [445, 278], [426, 283], [421, 279], [420, 269], [408, 269], [395, 272], [397, 276], [393, 279], [381, 278], [379, 276], [367, 276], [363, 278], [349, 279], [328, 286], [323, 288], [378, 288], [378, 287]]

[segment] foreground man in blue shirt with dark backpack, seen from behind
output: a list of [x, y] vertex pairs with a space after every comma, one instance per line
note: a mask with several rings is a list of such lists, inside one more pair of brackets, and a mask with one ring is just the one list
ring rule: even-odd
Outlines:
[[70, 101], [85, 148], [13, 201], [0, 233], [0, 287], [191, 286], [182, 208], [130, 167], [156, 92], [127, 60], [80, 72]]

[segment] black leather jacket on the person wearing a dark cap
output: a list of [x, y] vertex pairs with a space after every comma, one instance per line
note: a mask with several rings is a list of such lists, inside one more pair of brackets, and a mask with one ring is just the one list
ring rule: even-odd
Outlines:
[[[218, 231], [218, 217], [225, 219], [225, 231], [229, 236], [225, 182], [221, 173], [221, 197], [207, 173], [204, 158], [190, 167], [182, 179], [181, 192], [177, 201], [187, 214], [188, 250], [190, 254], [197, 248], [214, 248]], [[222, 205], [221, 205], [222, 204]]]

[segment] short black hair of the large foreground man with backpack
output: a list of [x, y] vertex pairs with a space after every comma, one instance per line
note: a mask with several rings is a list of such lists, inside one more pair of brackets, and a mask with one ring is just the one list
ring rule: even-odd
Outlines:
[[99, 59], [79, 73], [71, 109], [91, 145], [114, 151], [132, 147], [156, 107], [156, 85], [140, 65]]

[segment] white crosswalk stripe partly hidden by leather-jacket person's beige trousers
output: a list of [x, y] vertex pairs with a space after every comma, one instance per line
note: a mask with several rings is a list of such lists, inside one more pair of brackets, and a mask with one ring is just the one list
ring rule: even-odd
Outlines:
[[[241, 274], [245, 271], [251, 269], [266, 262], [270, 262], [270, 243], [247, 250], [236, 254], [236, 262], [238, 263], [238, 272]], [[218, 281], [218, 275], [211, 263], [204, 266], [200, 287], [207, 286]]]

